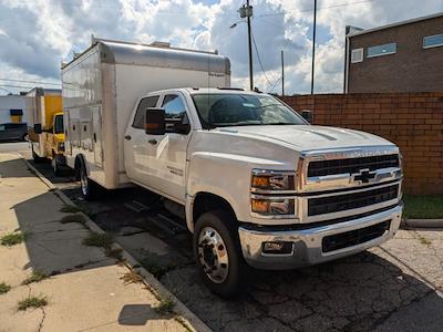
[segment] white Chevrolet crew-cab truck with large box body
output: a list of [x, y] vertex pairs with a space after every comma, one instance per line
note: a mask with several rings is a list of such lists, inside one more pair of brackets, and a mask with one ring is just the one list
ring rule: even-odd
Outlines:
[[[63, 89], [72, 82], [68, 74], [80, 77], [75, 64], [86, 55], [64, 68]], [[229, 75], [225, 58], [205, 55], [220, 61], [214, 75], [205, 75], [214, 81]], [[109, 189], [136, 184], [182, 207], [203, 279], [215, 293], [235, 295], [246, 264], [317, 264], [363, 251], [398, 231], [402, 166], [394, 144], [363, 132], [312, 126], [261, 93], [182, 87], [142, 94], [142, 70], [126, 75], [117, 65], [106, 66], [96, 73], [102, 87], [91, 91], [104, 96], [91, 106], [97, 111], [86, 112], [79, 92], [63, 92], [69, 164], [86, 198], [97, 184]], [[119, 76], [131, 79], [115, 84]], [[189, 80], [187, 85], [203, 85]], [[171, 77], [171, 85], [181, 82]], [[78, 98], [71, 103], [69, 96]], [[73, 116], [82, 112], [87, 116]], [[75, 136], [79, 123], [90, 136]]]

